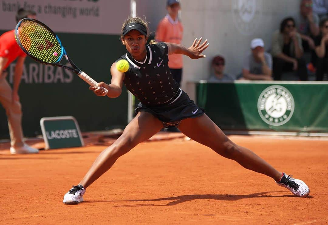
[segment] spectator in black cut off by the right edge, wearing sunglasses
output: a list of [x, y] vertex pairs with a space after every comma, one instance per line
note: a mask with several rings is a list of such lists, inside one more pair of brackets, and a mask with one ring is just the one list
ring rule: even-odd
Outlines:
[[323, 74], [328, 73], [328, 18], [320, 21], [320, 35], [315, 39], [318, 55], [316, 80], [323, 80]]

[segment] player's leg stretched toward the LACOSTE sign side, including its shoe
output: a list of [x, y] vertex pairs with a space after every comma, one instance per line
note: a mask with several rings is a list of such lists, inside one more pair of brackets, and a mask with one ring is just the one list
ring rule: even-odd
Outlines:
[[79, 185], [73, 186], [65, 194], [64, 203], [78, 204], [83, 201], [82, 195], [85, 188], [108, 171], [120, 156], [128, 153], [137, 144], [152, 137], [162, 127], [163, 123], [151, 113], [139, 112], [124, 129], [122, 135], [98, 155], [87, 174], [79, 182]]

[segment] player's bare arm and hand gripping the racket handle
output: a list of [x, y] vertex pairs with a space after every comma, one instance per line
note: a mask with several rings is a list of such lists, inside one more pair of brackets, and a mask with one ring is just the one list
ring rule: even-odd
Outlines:
[[100, 82], [98, 83], [99, 88], [89, 87], [89, 89], [92, 90], [96, 95], [103, 96], [104, 89], [101, 87], [104, 87], [108, 90], [107, 97], [116, 98], [120, 96], [122, 93], [122, 86], [123, 86], [125, 73], [119, 72], [116, 69], [116, 63], [113, 63], [113, 65], [111, 66], [111, 74], [112, 74], [111, 84]]

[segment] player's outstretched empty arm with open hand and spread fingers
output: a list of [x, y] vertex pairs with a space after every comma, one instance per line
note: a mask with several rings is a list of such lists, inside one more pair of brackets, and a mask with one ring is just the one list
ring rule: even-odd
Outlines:
[[209, 44], [207, 44], [207, 39], [200, 44], [202, 41], [202, 38], [199, 38], [197, 41], [197, 38], [195, 39], [194, 43], [189, 47], [186, 48], [183, 45], [180, 44], [174, 44], [174, 43], [168, 43], [166, 42], [169, 50], [169, 55], [171, 54], [183, 54], [187, 55], [192, 59], [199, 59], [199, 58], [204, 58], [206, 55], [201, 54]]

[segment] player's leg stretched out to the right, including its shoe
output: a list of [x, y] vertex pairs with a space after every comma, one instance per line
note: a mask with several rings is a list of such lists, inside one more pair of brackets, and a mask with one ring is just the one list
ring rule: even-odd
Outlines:
[[223, 157], [235, 160], [246, 169], [272, 177], [278, 185], [289, 189], [297, 196], [307, 196], [310, 192], [303, 181], [282, 175], [249, 149], [236, 145], [206, 114], [182, 120], [179, 130]]

